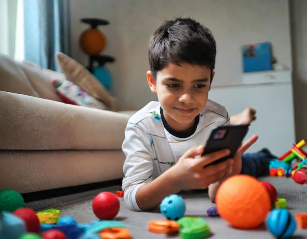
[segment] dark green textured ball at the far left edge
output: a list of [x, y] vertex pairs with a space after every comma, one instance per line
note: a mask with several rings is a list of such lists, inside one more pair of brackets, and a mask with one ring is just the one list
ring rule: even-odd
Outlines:
[[25, 201], [19, 192], [10, 189], [0, 191], [0, 212], [14, 212], [16, 209], [23, 208]]

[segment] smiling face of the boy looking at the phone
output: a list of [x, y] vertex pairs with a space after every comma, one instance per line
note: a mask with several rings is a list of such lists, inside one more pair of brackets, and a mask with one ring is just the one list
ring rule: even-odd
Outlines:
[[164, 117], [177, 132], [188, 132], [195, 117], [205, 108], [214, 72], [205, 66], [169, 63], [157, 72], [156, 80], [147, 72], [148, 84], [156, 93]]

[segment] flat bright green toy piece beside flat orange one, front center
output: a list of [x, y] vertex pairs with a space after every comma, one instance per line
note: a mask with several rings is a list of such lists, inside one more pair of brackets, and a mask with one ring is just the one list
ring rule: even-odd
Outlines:
[[210, 235], [210, 228], [204, 218], [181, 217], [179, 235], [182, 239], [204, 239]]

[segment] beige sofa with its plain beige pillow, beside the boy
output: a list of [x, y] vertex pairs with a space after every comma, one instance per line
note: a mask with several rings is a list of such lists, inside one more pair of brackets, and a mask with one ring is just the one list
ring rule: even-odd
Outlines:
[[132, 112], [62, 103], [51, 79], [73, 80], [113, 110], [118, 106], [84, 67], [64, 58], [73, 66], [60, 62], [57, 73], [0, 55], [0, 190], [28, 193], [123, 177], [121, 144]]

